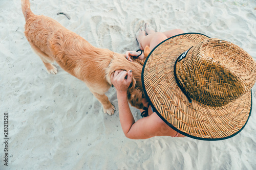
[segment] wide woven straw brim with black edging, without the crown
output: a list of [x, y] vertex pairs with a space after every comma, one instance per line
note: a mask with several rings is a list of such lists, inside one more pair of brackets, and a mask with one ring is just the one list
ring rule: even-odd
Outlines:
[[174, 77], [177, 58], [208, 36], [185, 33], [159, 43], [148, 55], [142, 69], [142, 87], [148, 102], [162, 120], [177, 132], [200, 140], [222, 140], [237, 135], [251, 113], [251, 91], [222, 106], [208, 107], [188, 102]]

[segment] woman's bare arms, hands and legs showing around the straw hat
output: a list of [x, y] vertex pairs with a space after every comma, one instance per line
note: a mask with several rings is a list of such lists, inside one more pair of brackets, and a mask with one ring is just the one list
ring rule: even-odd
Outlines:
[[[153, 50], [153, 48], [163, 40], [184, 33], [179, 29], [166, 31], [164, 33], [155, 32], [148, 23], [145, 24], [145, 31], [141, 27], [136, 34], [136, 39], [139, 42], [141, 50], [144, 50], [146, 45], [150, 47], [150, 50]], [[131, 56], [136, 55], [138, 55], [138, 53], [135, 51], [129, 51], [129, 53], [126, 53], [126, 58], [132, 61]], [[128, 75], [128, 78], [125, 80], [124, 77], [126, 75]], [[112, 83], [117, 89], [120, 122], [125, 136], [131, 139], [146, 139], [153, 136], [183, 137], [184, 135], [177, 133], [165, 124], [155, 112], [153, 113], [151, 106], [148, 108], [148, 102], [146, 100], [142, 102], [143, 105], [148, 108], [148, 116], [139, 119], [135, 124], [134, 117], [127, 102], [126, 93], [131, 83], [131, 76], [132, 70], [129, 72], [117, 70], [112, 75]]]

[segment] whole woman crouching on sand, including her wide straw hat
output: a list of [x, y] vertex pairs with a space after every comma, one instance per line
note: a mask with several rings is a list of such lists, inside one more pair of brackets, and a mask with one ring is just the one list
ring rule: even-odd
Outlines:
[[[152, 50], [142, 70], [147, 96], [142, 103], [148, 107], [148, 116], [135, 122], [129, 108], [126, 90], [132, 70], [112, 74], [126, 137], [185, 135], [220, 140], [238, 134], [247, 123], [252, 104], [250, 89], [256, 80], [255, 61], [230, 42], [183, 33], [179, 29], [155, 32], [146, 24], [145, 31], [140, 28], [136, 34], [140, 49], [148, 45]], [[126, 55], [131, 61], [131, 56], [137, 54]]]

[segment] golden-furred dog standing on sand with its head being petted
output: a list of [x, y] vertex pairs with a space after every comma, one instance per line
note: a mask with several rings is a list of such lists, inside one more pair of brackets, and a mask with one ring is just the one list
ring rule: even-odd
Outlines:
[[62, 69], [86, 83], [102, 104], [104, 113], [112, 115], [115, 107], [105, 95], [112, 86], [111, 74], [118, 69], [132, 69], [133, 79], [127, 91], [128, 100], [132, 106], [143, 108], [142, 98], [145, 96], [142, 90], [141, 70], [144, 60], [134, 59], [130, 62], [124, 54], [94, 47], [56, 20], [35, 15], [30, 9], [29, 0], [22, 0], [22, 11], [26, 20], [25, 35], [49, 74], [57, 73], [57, 68], [52, 63], [58, 63]]

